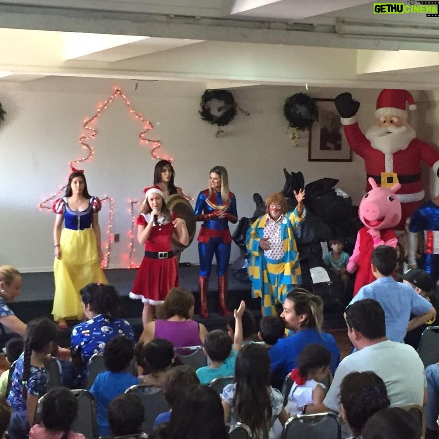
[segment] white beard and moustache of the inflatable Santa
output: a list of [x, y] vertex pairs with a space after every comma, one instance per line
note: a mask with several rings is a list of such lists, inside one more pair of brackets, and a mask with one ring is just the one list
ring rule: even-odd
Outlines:
[[373, 148], [384, 154], [393, 154], [407, 148], [416, 137], [416, 133], [412, 125], [409, 124], [400, 127], [372, 125], [366, 131], [365, 136]]

